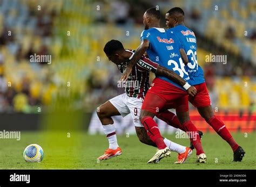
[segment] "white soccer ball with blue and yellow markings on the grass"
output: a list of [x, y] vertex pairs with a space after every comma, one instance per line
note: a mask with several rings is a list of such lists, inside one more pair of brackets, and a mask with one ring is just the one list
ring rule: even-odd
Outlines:
[[42, 147], [37, 144], [31, 144], [25, 148], [23, 157], [26, 162], [42, 162], [44, 151]]

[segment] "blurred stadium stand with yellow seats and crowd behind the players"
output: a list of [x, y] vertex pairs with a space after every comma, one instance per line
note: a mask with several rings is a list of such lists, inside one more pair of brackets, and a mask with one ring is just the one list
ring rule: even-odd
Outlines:
[[[54, 104], [67, 81], [72, 90], [65, 92], [63, 102], [72, 94], [72, 106], [87, 112], [123, 93], [117, 88], [120, 73], [106, 58], [104, 44], [118, 39], [136, 49], [143, 13], [156, 5], [163, 27], [167, 10], [184, 9], [186, 25], [198, 38], [198, 62], [213, 106], [255, 112], [256, 5], [250, 0], [1, 0], [0, 112], [37, 113], [38, 106]], [[34, 53], [52, 55], [52, 64], [30, 63]], [[227, 64], [205, 62], [210, 53], [226, 54]]]

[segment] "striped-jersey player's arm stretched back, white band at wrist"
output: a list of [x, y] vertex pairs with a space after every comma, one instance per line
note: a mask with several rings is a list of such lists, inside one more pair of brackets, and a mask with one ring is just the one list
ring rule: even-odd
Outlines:
[[181, 85], [183, 87], [188, 95], [195, 96], [197, 93], [197, 89], [192, 87], [190, 84], [188, 84], [183, 78], [181, 78], [178, 74], [176, 74], [174, 71], [167, 69], [163, 66], [160, 66], [158, 63], [151, 61], [147, 57], [143, 56], [140, 58], [140, 60], [137, 62], [138, 66], [151, 71], [152, 73], [155, 73], [159, 76], [164, 76], [168, 78], [169, 80]]

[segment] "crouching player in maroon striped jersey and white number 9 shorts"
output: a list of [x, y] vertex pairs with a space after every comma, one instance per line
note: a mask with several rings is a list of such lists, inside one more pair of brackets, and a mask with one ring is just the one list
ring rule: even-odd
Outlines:
[[[119, 71], [123, 73], [127, 67], [127, 61], [132, 58], [135, 51], [124, 49], [122, 43], [118, 40], [111, 40], [105, 45], [104, 52], [109, 57], [109, 60], [115, 63]], [[99, 160], [110, 159], [111, 157], [122, 154], [122, 150], [117, 143], [116, 129], [113, 125], [112, 116], [121, 115], [125, 117], [131, 113], [139, 140], [147, 145], [157, 147], [156, 143], [151, 141], [149, 136], [147, 136], [144, 126], [139, 121], [143, 99], [150, 87], [149, 71], [156, 73], [156, 75], [166, 76], [181, 86], [186, 84], [185, 80], [174, 73], [174, 71], [159, 66], [158, 63], [152, 62], [143, 55], [132, 69], [126, 83], [127, 85], [125, 86], [125, 93], [108, 100], [97, 109], [98, 117], [109, 139], [109, 148], [106, 149], [102, 156], [98, 157]], [[189, 87], [187, 93], [188, 95], [194, 96], [196, 95], [196, 90], [193, 87]], [[169, 111], [165, 111], [165, 114], [168, 114], [169, 118], [175, 116]], [[161, 119], [161, 116], [159, 118]], [[177, 126], [174, 127], [179, 128]], [[176, 163], [184, 163], [187, 157], [192, 154], [192, 150], [188, 147], [178, 145], [166, 138], [163, 138], [163, 141], [170, 150], [178, 153], [178, 161]]]

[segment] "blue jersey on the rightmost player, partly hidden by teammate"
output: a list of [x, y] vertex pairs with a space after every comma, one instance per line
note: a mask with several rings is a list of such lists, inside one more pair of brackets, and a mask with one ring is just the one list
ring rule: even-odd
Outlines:
[[178, 25], [170, 28], [167, 32], [175, 34], [184, 47], [188, 57], [186, 70], [190, 76], [190, 84], [197, 85], [204, 83], [205, 79], [203, 69], [197, 62], [197, 39], [194, 32], [184, 25]]

